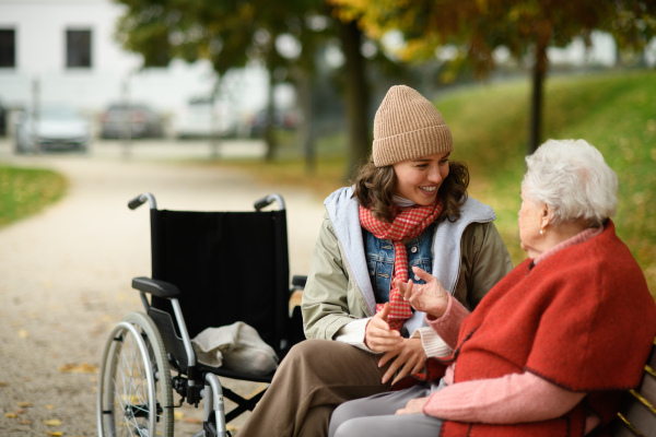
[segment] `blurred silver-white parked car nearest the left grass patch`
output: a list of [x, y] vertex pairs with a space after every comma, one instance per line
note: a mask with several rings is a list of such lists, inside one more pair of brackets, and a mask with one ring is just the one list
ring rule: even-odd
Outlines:
[[15, 125], [16, 153], [86, 151], [91, 125], [69, 105], [44, 105], [38, 113], [23, 111]]

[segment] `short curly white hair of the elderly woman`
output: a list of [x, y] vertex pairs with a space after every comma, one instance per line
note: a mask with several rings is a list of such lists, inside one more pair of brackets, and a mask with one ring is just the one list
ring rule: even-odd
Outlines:
[[553, 210], [553, 225], [584, 218], [598, 226], [614, 215], [618, 175], [587, 141], [549, 140], [526, 164], [525, 196]]

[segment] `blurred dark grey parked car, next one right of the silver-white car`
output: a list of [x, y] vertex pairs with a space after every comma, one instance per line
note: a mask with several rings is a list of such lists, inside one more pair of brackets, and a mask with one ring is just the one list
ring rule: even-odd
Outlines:
[[130, 138], [162, 138], [164, 121], [147, 105], [109, 105], [101, 115], [101, 137], [127, 138], [128, 133]]

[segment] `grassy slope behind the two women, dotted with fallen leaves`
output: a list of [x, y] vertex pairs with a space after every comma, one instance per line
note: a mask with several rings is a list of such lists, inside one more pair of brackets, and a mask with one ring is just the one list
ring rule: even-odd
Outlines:
[[[467, 87], [436, 101], [453, 131], [453, 157], [470, 167], [470, 194], [496, 211], [496, 225], [515, 264], [525, 258], [519, 249], [517, 211], [529, 95], [526, 80]], [[542, 132], [544, 139], [587, 140], [618, 173], [618, 234], [656, 295], [656, 72], [548, 79]], [[290, 153], [272, 164], [234, 165], [265, 181], [313, 188], [323, 198], [344, 184], [345, 160], [330, 153], [343, 150], [344, 141], [343, 135], [337, 137], [319, 146], [314, 175], [307, 174], [301, 158], [289, 157]]]

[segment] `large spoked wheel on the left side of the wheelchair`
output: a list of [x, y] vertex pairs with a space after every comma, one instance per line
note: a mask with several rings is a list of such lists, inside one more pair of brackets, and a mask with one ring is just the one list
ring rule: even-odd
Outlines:
[[110, 333], [98, 377], [98, 436], [173, 436], [173, 390], [162, 336], [131, 312]]

